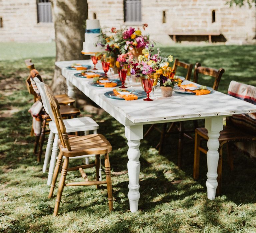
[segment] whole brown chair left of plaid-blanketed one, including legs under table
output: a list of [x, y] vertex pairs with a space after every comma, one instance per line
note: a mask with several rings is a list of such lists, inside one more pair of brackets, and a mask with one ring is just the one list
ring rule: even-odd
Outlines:
[[[213, 89], [215, 91], [218, 90], [220, 79], [223, 75], [225, 70], [223, 68], [220, 68], [219, 70], [209, 68], [209, 67], [202, 67], [200, 63], [196, 63], [195, 69], [194, 69], [194, 77], [193, 82], [198, 83], [198, 74], [208, 75], [214, 79]], [[178, 128], [178, 166], [179, 168], [182, 167], [182, 156], [183, 156], [183, 146], [184, 146], [184, 137], [189, 138], [190, 140], [194, 140], [194, 138], [190, 135], [190, 133], [194, 132], [195, 128], [198, 127], [197, 120], [193, 121], [194, 123], [194, 129], [185, 129], [184, 122], [180, 121], [178, 122], [179, 126]], [[160, 141], [160, 147], [159, 147], [159, 153], [161, 153], [164, 145], [164, 139], [166, 135], [172, 133], [173, 126], [175, 126], [175, 123], [171, 123], [170, 127], [167, 131], [163, 130], [163, 133], [161, 134], [161, 141]]]

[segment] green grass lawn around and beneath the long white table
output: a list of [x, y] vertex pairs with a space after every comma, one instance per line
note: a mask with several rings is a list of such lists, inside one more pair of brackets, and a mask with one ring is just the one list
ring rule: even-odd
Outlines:
[[[59, 216], [53, 217], [57, 189], [54, 198], [48, 199], [47, 174], [42, 173], [42, 162], [37, 164], [33, 154], [28, 113], [33, 100], [25, 87], [28, 69], [24, 59], [32, 58], [49, 83], [54, 45], [37, 44], [33, 52], [28, 52], [29, 48], [27, 44], [0, 44], [0, 232], [256, 232], [255, 160], [234, 151], [235, 168], [230, 171], [224, 153], [222, 195], [208, 200], [206, 156], [201, 158], [200, 179], [195, 181], [193, 144], [184, 148], [181, 170], [176, 166], [177, 137], [169, 137], [163, 154], [158, 155], [157, 133], [141, 141], [142, 198], [139, 211], [129, 212], [124, 127], [106, 113], [93, 118], [100, 125], [99, 133], [113, 146], [110, 161], [115, 210], [108, 211], [105, 187], [66, 187]], [[231, 80], [256, 85], [256, 46], [173, 46], [163, 50], [188, 63], [223, 67], [221, 92], [227, 93]], [[206, 78], [200, 82], [211, 85]], [[76, 160], [71, 165], [77, 164]], [[87, 174], [94, 177], [94, 170], [88, 169]], [[80, 173], [70, 172], [67, 180], [81, 180]]]

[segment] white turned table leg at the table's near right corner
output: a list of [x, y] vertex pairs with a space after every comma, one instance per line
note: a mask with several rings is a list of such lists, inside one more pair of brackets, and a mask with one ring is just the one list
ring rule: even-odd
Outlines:
[[216, 194], [217, 182], [217, 168], [219, 161], [219, 136], [220, 131], [223, 129], [223, 117], [215, 116], [212, 118], [205, 119], [205, 128], [208, 130], [208, 141], [207, 141], [207, 198], [213, 200]]

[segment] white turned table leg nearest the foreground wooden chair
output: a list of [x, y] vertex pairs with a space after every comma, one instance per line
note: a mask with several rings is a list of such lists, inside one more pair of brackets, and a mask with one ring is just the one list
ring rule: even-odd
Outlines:
[[138, 211], [138, 204], [140, 199], [139, 192], [139, 174], [140, 174], [140, 139], [143, 138], [143, 125], [125, 126], [125, 136], [128, 139], [129, 149], [127, 156], [129, 161], [127, 163], [129, 176], [129, 192], [128, 199], [130, 202], [130, 211], [132, 213]]

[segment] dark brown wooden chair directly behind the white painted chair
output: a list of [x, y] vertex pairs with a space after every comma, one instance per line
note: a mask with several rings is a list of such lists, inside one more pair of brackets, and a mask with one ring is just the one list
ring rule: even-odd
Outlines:
[[[42, 81], [41, 76], [39, 75], [38, 71], [33, 69], [30, 71], [30, 84], [33, 88], [33, 95], [34, 99], [41, 101], [41, 96], [40, 93], [37, 89], [36, 83], [33, 81], [33, 79], [37, 77], [40, 81]], [[74, 118], [80, 115], [80, 111], [77, 108], [74, 108], [73, 106], [69, 105], [61, 105], [60, 111], [63, 117], [65, 118]], [[37, 153], [37, 161], [41, 161], [41, 156], [42, 156], [42, 150], [43, 150], [43, 143], [44, 143], [44, 138], [45, 138], [45, 128], [46, 125], [48, 124], [48, 121], [51, 120], [49, 115], [45, 113], [44, 111], [40, 113], [39, 118], [42, 120], [42, 125], [41, 125], [41, 133], [40, 135], [36, 135], [35, 138], [35, 146], [34, 146], [34, 153], [37, 153], [37, 148], [38, 148], [38, 153]]]

